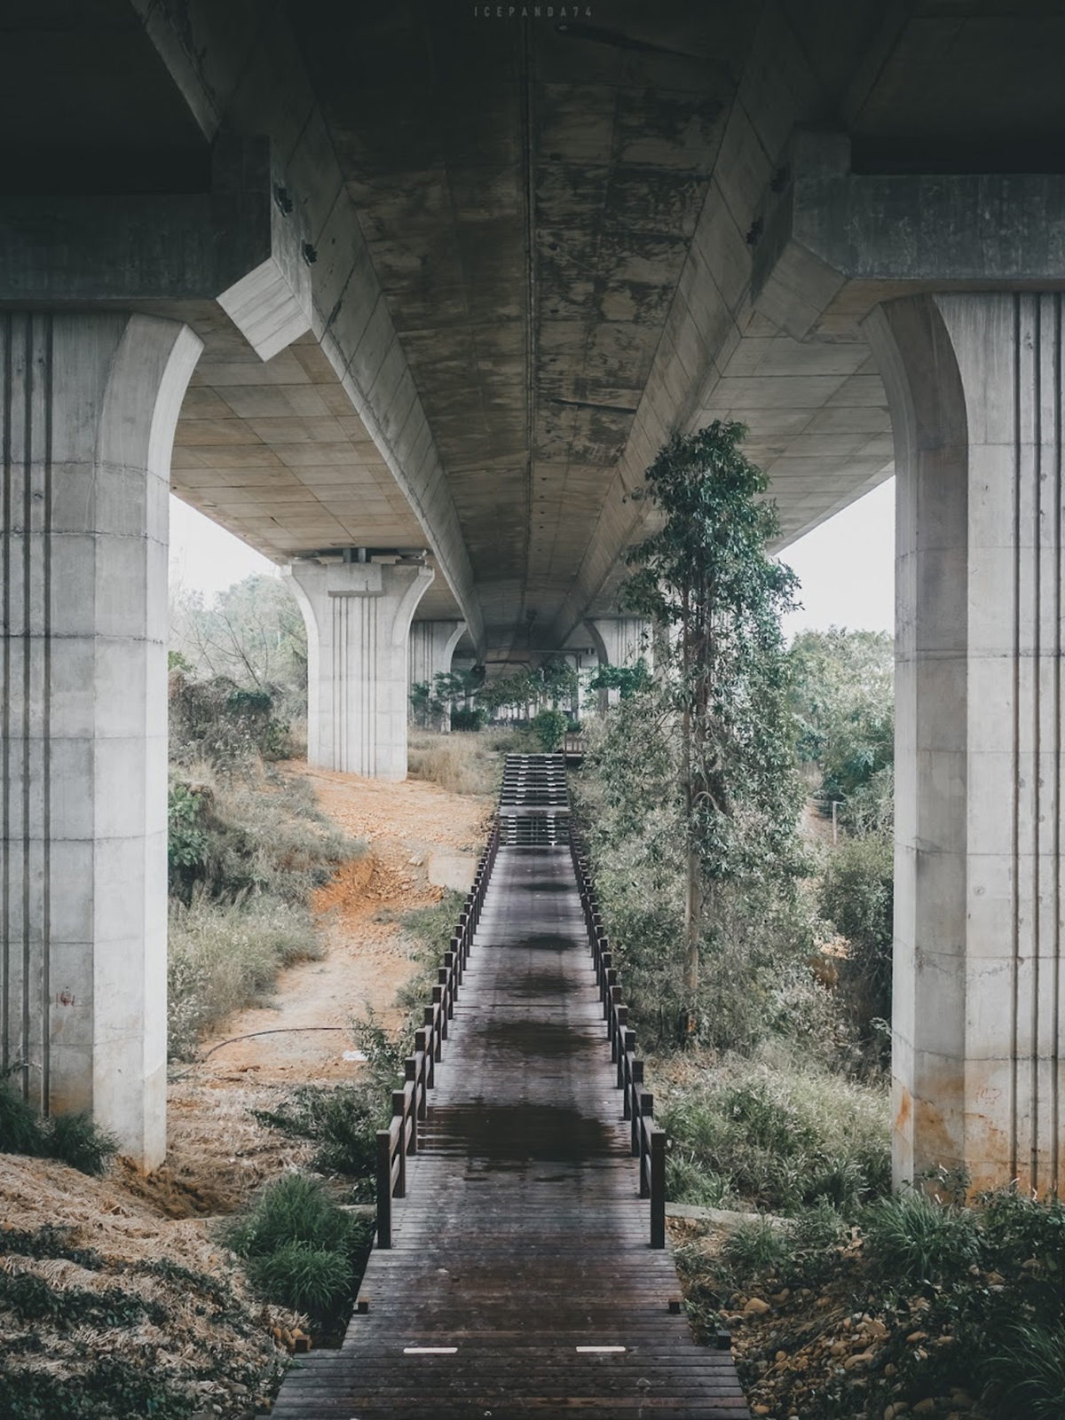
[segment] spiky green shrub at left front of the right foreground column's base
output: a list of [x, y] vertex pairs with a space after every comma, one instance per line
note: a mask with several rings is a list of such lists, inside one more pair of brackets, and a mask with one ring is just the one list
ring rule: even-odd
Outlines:
[[916, 1189], [878, 1198], [862, 1221], [873, 1268], [903, 1287], [950, 1281], [980, 1257], [976, 1214], [937, 1203]]

